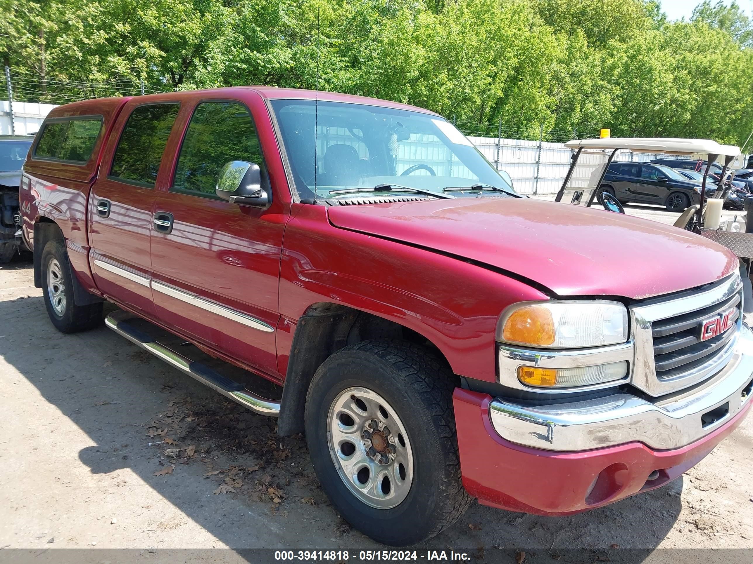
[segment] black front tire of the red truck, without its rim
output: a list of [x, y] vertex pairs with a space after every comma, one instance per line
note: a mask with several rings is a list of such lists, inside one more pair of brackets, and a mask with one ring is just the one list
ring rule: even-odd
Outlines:
[[[392, 546], [415, 544], [446, 529], [468, 508], [472, 498], [462, 486], [453, 414], [455, 378], [428, 350], [398, 340], [345, 347], [314, 374], [306, 396], [309, 456], [334, 508], [364, 535]], [[375, 508], [361, 501], [334, 462], [337, 454], [328, 441], [330, 408], [352, 387], [382, 396], [409, 433], [412, 481], [396, 507]]]

